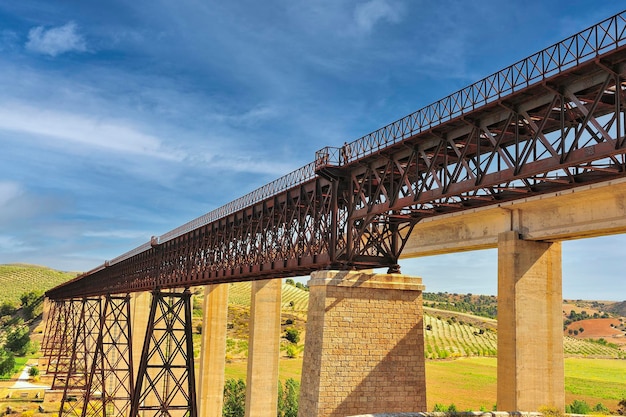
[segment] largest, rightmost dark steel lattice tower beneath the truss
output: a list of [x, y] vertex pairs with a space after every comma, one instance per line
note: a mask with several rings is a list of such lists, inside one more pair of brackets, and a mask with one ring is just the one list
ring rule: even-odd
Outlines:
[[152, 293], [130, 415], [197, 417], [191, 292]]

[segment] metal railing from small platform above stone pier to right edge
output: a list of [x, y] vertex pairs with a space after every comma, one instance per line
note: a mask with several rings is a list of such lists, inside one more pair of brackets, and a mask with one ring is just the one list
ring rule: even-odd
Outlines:
[[[347, 143], [343, 148], [323, 148], [316, 154], [318, 169], [324, 165], [354, 162], [625, 44], [626, 11]], [[336, 158], [323, 159], [325, 155]], [[322, 164], [323, 161], [326, 163]]]

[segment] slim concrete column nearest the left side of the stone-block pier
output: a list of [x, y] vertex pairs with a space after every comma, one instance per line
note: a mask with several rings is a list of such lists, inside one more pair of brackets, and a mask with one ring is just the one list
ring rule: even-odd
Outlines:
[[254, 281], [250, 306], [246, 417], [276, 417], [282, 280]]

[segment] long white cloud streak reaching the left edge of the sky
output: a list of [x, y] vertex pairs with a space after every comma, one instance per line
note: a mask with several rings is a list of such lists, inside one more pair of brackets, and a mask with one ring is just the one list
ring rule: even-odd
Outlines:
[[165, 149], [162, 141], [119, 120], [40, 109], [20, 103], [0, 103], [0, 129], [38, 135], [126, 154], [180, 161], [184, 155]]

